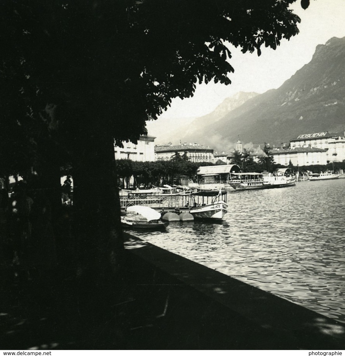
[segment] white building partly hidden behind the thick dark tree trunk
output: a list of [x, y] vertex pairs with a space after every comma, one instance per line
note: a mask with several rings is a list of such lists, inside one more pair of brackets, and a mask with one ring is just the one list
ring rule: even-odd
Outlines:
[[123, 148], [115, 145], [115, 159], [130, 159], [131, 161], [155, 161], [155, 138], [153, 136], [142, 135], [138, 143], [122, 142]]

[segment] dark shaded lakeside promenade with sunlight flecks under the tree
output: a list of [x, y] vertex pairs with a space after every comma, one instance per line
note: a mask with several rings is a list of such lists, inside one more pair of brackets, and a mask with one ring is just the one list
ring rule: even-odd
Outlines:
[[339, 350], [343, 324], [125, 234], [107, 286], [1, 268], [1, 349]]

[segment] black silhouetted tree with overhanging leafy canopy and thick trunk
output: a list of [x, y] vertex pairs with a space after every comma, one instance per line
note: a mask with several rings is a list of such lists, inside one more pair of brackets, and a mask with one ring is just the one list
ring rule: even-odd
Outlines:
[[58, 203], [70, 165], [80, 262], [115, 268], [114, 138], [136, 142], [197, 83], [230, 84], [227, 41], [260, 55], [296, 35], [294, 1], [1, 1], [1, 174], [36, 171]]

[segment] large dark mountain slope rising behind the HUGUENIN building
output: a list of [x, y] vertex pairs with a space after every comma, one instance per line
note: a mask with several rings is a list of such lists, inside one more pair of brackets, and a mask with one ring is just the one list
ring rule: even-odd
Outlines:
[[222, 150], [238, 137], [244, 143], [279, 145], [302, 133], [344, 130], [345, 37], [333, 37], [280, 88], [247, 100], [192, 135], [185, 131], [182, 139]]

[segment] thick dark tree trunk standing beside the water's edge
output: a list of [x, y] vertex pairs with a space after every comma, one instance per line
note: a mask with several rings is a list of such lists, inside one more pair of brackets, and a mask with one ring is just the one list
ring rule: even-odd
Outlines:
[[87, 151], [73, 175], [79, 265], [84, 274], [97, 276], [97, 280], [119, 271], [124, 248], [113, 138], [107, 138], [87, 141]]

